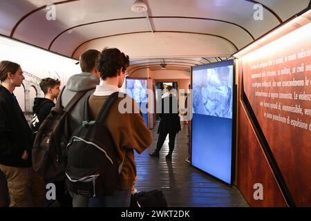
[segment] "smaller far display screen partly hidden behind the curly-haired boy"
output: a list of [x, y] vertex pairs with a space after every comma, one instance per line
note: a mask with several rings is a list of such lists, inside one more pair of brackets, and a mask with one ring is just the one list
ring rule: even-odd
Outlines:
[[[147, 79], [126, 78], [126, 94], [130, 95], [142, 110], [142, 117], [148, 126], [148, 96], [147, 96]], [[144, 107], [144, 108], [142, 108]]]

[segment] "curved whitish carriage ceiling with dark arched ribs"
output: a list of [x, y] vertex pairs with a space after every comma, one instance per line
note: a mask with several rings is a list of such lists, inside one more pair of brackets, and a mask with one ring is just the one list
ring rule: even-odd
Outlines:
[[[109, 46], [137, 59], [192, 57], [207, 64], [229, 57], [310, 7], [310, 0], [144, 1], [149, 20], [131, 11], [133, 0], [0, 1], [0, 34], [76, 59], [88, 48]], [[55, 21], [46, 19], [50, 3], [55, 3]], [[263, 4], [263, 20], [253, 17], [256, 3]], [[178, 61], [167, 66], [195, 65]]]

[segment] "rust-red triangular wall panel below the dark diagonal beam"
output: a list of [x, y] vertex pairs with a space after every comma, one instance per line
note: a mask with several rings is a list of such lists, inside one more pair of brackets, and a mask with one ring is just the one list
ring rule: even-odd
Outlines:
[[[263, 200], [254, 200], [256, 183], [263, 184]], [[238, 189], [250, 206], [288, 206], [241, 102], [238, 108]]]

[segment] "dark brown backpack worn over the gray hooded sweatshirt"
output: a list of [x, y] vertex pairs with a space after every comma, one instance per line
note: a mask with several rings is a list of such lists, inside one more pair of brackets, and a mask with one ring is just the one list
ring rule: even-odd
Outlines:
[[64, 108], [61, 104], [62, 93], [50, 111], [50, 114], [39, 127], [32, 147], [32, 166], [44, 180], [64, 180], [66, 169], [66, 145], [68, 135], [67, 113], [88, 91], [80, 91]]

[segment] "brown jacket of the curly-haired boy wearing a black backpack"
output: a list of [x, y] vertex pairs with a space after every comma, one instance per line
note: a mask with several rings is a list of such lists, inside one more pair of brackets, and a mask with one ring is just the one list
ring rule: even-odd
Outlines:
[[[91, 95], [88, 100], [90, 119], [95, 119], [108, 97], [109, 96]], [[132, 104], [131, 113], [120, 113], [118, 106], [123, 99], [127, 99], [127, 104]], [[125, 100], [123, 100], [123, 102], [124, 101]], [[142, 114], [134, 113], [134, 108], [138, 108], [138, 105], [131, 97], [127, 95], [125, 95], [124, 98], [119, 97], [111, 106], [105, 121], [105, 126], [111, 132], [115, 147], [117, 148], [118, 164], [121, 164], [125, 154], [117, 189], [131, 189], [136, 177], [133, 150], [135, 149], [137, 153], [142, 153], [152, 142], [151, 132], [145, 126]]]

